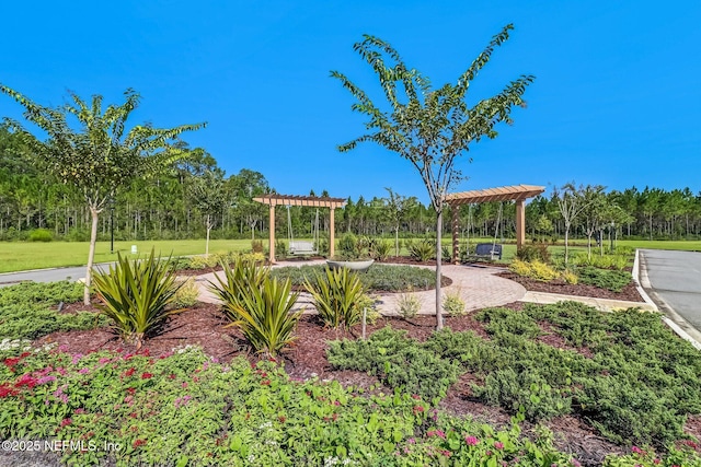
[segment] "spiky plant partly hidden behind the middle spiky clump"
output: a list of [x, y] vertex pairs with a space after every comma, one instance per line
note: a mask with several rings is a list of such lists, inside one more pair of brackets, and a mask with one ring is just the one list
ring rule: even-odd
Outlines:
[[255, 289], [261, 289], [268, 279], [269, 268], [263, 268], [255, 261], [238, 257], [233, 267], [221, 262], [225, 278], [215, 276], [218, 283], [209, 282], [209, 290], [221, 300], [223, 313], [227, 317], [237, 322], [239, 310], [245, 306], [245, 299], [251, 296]]

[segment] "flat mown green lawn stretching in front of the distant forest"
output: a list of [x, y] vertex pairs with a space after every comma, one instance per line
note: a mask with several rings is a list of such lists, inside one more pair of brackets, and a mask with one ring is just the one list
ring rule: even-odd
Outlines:
[[[476, 243], [490, 243], [493, 238], [470, 238], [472, 247]], [[507, 241], [513, 242], [513, 241]], [[267, 247], [267, 238], [263, 240], [263, 244]], [[450, 245], [450, 238], [444, 237], [444, 245]], [[204, 240], [173, 240], [173, 241], [141, 241], [141, 242], [115, 242], [115, 253], [110, 253], [110, 242], [97, 242], [95, 250], [95, 262], [112, 261], [117, 258], [116, 252], [128, 257], [131, 255], [131, 245], [137, 246], [138, 255], [145, 255], [156, 249], [162, 256], [185, 256], [202, 255], [205, 253]], [[701, 241], [618, 241], [619, 246], [628, 246], [631, 248], [650, 248], [650, 249], [680, 249], [687, 252], [701, 252]], [[49, 242], [49, 243], [30, 243], [30, 242], [0, 242], [0, 272], [23, 271], [28, 269], [56, 268], [62, 266], [82, 266], [88, 260], [87, 242]], [[212, 240], [209, 242], [209, 252], [240, 252], [251, 248], [250, 240]], [[550, 253], [553, 257], [562, 257], [564, 255], [564, 246], [562, 244], [550, 246]], [[583, 252], [586, 249], [586, 241], [576, 240], [571, 252]], [[392, 250], [393, 252], [393, 250]], [[403, 248], [402, 254], [406, 254]], [[516, 245], [507, 243], [504, 245], [504, 253], [501, 262], [510, 262], [516, 254]]]

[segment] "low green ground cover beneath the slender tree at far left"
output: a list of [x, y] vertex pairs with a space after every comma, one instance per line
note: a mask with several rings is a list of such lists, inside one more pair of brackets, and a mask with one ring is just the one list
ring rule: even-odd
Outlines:
[[82, 287], [68, 281], [0, 288], [0, 339], [36, 339], [59, 330], [105, 326], [106, 319], [95, 313], [58, 312], [59, 303], [73, 303], [81, 296]]

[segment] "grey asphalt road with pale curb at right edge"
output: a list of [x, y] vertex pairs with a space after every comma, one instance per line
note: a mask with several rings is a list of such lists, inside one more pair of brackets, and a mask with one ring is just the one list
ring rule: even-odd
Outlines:
[[650, 297], [701, 342], [701, 253], [641, 249], [640, 261]]

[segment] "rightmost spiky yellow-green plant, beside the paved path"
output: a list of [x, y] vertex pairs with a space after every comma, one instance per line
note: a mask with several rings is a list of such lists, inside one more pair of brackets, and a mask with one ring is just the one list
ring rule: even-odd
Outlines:
[[346, 329], [360, 322], [360, 303], [365, 285], [357, 273], [346, 268], [326, 268], [314, 283], [307, 280], [304, 288], [312, 295], [319, 316], [333, 329]]

